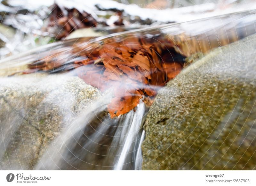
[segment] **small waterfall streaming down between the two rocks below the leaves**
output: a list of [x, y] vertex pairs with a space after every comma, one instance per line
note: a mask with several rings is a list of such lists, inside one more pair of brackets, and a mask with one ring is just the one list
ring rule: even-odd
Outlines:
[[[104, 101], [105, 100], [105, 101]], [[38, 170], [134, 170], [141, 154], [141, 123], [145, 104], [111, 119], [104, 112], [106, 99], [84, 111], [54, 140], [37, 163]], [[97, 106], [96, 106], [97, 105]]]

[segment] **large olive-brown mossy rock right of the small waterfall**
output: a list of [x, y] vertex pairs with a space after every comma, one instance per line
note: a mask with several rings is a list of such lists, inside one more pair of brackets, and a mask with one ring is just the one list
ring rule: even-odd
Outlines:
[[256, 35], [188, 66], [144, 125], [145, 170], [256, 169]]

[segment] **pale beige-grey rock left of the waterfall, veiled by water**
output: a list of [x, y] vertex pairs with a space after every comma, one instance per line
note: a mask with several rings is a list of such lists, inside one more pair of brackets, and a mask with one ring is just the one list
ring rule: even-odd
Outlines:
[[1, 78], [0, 168], [34, 169], [53, 139], [99, 96], [78, 77]]

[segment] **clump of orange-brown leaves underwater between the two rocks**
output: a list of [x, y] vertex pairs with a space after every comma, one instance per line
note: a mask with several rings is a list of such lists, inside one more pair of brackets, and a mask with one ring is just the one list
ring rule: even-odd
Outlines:
[[115, 117], [135, 108], [140, 99], [151, 105], [159, 87], [183, 68], [183, 56], [175, 52], [170, 42], [163, 43], [163, 37], [159, 35], [158, 40], [153, 40], [147, 36], [127, 36], [87, 45], [78, 42], [29, 67], [53, 73], [74, 69], [73, 74], [85, 83], [101, 91], [113, 89], [108, 112]]

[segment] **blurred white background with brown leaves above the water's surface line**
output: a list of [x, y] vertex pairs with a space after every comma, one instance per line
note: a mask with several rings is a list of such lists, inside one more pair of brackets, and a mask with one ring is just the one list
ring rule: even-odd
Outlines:
[[253, 8], [253, 0], [2, 0], [0, 59], [59, 40]]

